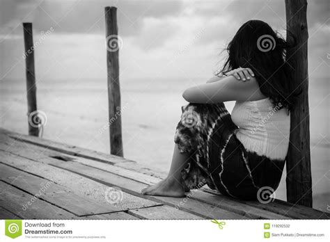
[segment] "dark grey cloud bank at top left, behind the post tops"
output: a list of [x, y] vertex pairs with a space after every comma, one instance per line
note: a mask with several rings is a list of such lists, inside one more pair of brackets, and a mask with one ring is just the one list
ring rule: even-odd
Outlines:
[[1, 0], [0, 24], [7, 29], [22, 21], [33, 22], [35, 31], [51, 26], [56, 33], [104, 33], [104, 7], [117, 6], [120, 35], [139, 34], [143, 19], [178, 15], [181, 1], [12, 1]]

